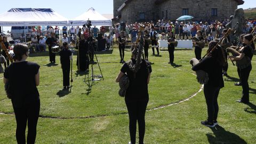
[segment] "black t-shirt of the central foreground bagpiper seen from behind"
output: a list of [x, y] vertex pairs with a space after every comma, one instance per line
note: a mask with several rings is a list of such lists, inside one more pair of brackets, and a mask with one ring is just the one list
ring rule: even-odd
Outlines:
[[[135, 63], [135, 60], [132, 60], [133, 63]], [[148, 75], [151, 73], [152, 69], [150, 64], [145, 60], [142, 60], [140, 64], [140, 69], [137, 73], [133, 73], [132, 70], [130, 70], [129, 66], [127, 65], [127, 62], [124, 63], [123, 67], [121, 68], [121, 71], [123, 73], [126, 73], [129, 77], [130, 84], [128, 89], [125, 93], [125, 99], [126, 100], [145, 100], [148, 99]]]

